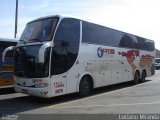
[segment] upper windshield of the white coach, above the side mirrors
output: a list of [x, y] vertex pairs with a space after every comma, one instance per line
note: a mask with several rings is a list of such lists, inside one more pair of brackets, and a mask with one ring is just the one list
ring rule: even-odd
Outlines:
[[20, 37], [20, 41], [25, 43], [51, 41], [57, 23], [58, 17], [45, 18], [30, 22], [26, 25]]

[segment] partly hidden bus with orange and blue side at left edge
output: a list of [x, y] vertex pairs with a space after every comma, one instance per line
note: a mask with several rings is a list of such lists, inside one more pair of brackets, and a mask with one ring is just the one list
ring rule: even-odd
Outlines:
[[15, 46], [17, 41], [14, 39], [0, 38], [0, 88], [13, 85], [14, 58], [13, 51], [6, 55], [6, 61], [2, 62], [3, 50], [9, 46]]

